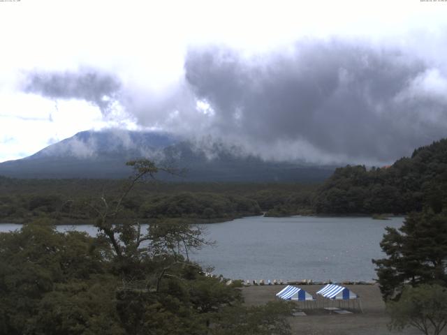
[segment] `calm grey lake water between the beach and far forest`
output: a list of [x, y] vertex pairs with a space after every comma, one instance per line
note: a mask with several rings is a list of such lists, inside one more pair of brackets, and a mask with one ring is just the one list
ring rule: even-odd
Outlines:
[[[214, 274], [226, 278], [314, 281], [371, 281], [376, 278], [372, 258], [381, 258], [379, 246], [384, 228], [398, 228], [403, 218], [323, 218], [252, 216], [204, 225], [207, 239], [217, 245], [191, 255]], [[20, 225], [1, 224], [0, 231]], [[58, 230], [83, 230], [96, 234], [91, 225], [61, 225]]]

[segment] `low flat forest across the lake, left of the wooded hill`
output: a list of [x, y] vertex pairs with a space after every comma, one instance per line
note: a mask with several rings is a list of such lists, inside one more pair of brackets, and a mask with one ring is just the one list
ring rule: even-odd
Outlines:
[[[50, 218], [57, 223], [91, 222], [92, 197], [116, 197], [125, 181], [97, 179], [10, 179], [0, 177], [0, 222]], [[225, 221], [241, 216], [286, 215], [312, 209], [314, 184], [216, 184], [147, 181], [124, 200], [122, 217], [175, 218], [184, 222]]]

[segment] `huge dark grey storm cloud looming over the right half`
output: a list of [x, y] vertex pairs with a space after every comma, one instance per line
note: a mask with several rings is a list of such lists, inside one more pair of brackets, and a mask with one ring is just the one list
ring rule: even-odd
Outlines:
[[213, 131], [265, 149], [300, 142], [329, 156], [390, 161], [446, 136], [446, 76], [400, 50], [309, 41], [247, 59], [211, 47], [191, 50], [185, 72], [214, 110]]

